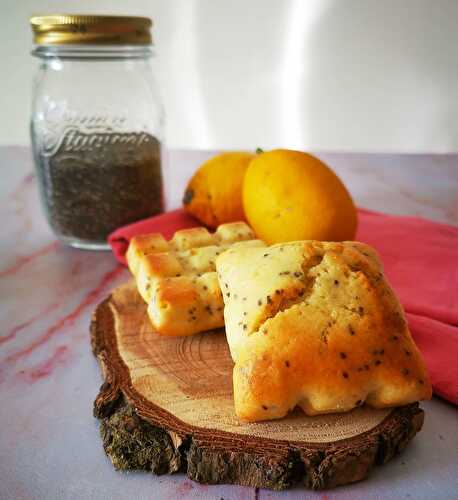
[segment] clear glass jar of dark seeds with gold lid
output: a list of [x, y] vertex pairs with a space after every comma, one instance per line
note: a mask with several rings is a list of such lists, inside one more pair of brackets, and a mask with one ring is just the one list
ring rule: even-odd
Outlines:
[[31, 137], [41, 199], [62, 242], [108, 248], [116, 228], [163, 209], [163, 108], [151, 20], [31, 19], [40, 59]]

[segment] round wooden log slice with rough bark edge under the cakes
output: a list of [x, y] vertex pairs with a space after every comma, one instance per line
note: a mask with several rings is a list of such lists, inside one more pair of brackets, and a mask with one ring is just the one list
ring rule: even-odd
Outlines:
[[243, 423], [224, 331], [157, 335], [133, 282], [97, 307], [91, 337], [105, 378], [94, 414], [117, 469], [183, 471], [207, 484], [332, 488], [365, 478], [423, 424], [418, 403]]

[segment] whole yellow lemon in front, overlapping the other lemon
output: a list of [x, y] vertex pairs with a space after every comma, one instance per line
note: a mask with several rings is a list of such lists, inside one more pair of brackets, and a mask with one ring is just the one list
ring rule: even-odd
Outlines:
[[277, 149], [257, 155], [245, 174], [243, 205], [257, 236], [270, 244], [355, 237], [350, 194], [329, 167], [307, 153]]

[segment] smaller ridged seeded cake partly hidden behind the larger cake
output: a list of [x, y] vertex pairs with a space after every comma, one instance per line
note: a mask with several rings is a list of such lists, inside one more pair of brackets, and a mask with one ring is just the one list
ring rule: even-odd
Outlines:
[[244, 222], [177, 231], [170, 241], [160, 234], [134, 237], [126, 254], [148, 316], [161, 335], [193, 335], [224, 326], [222, 292], [215, 260], [230, 247], [259, 247]]

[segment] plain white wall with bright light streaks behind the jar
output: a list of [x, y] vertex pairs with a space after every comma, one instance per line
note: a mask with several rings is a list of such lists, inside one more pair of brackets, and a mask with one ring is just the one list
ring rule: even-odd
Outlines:
[[28, 17], [153, 17], [177, 148], [458, 151], [458, 0], [0, 0], [0, 143], [27, 144]]

